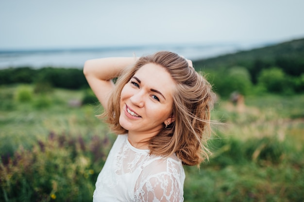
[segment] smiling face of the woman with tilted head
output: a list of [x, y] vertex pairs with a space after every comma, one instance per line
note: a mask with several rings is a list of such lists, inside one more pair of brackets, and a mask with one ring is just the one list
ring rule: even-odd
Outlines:
[[129, 133], [159, 132], [171, 120], [174, 87], [164, 67], [140, 67], [121, 91], [119, 124]]

